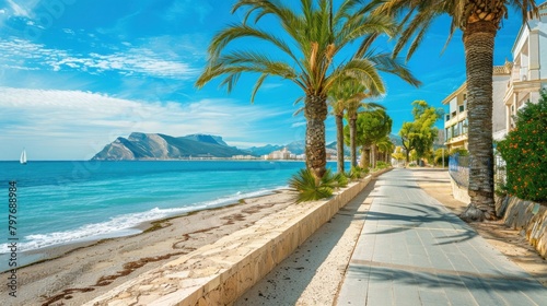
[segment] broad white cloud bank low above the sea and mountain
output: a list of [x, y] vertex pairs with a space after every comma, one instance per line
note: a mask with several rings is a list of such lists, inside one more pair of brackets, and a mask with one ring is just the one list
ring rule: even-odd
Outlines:
[[133, 131], [201, 132], [228, 141], [260, 139], [261, 122], [292, 111], [232, 99], [160, 104], [80, 91], [12, 87], [0, 87], [0, 128], [9, 131], [0, 136], [0, 145], [11, 148], [2, 150], [0, 160], [15, 156], [22, 146], [34, 151], [36, 158], [90, 158], [117, 137]]

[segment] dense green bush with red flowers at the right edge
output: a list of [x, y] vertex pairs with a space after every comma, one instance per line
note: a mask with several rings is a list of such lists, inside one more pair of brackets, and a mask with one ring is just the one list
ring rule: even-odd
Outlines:
[[516, 128], [500, 141], [507, 163], [507, 191], [523, 200], [547, 201], [547, 92], [516, 114]]

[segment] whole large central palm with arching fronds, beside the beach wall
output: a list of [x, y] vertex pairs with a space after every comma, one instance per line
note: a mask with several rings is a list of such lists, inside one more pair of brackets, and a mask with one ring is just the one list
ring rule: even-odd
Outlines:
[[[353, 78], [383, 92], [383, 82], [375, 62], [366, 57], [336, 62], [335, 57], [349, 44], [371, 34], [393, 34], [394, 23], [388, 16], [371, 16], [377, 5], [365, 5], [362, 14], [356, 14], [359, 0], [345, 0], [334, 12], [328, 0], [301, 0], [300, 11], [293, 5], [276, 0], [240, 0], [232, 12], [246, 9], [241, 24], [230, 25], [217, 34], [209, 46], [208, 64], [196, 82], [198, 87], [223, 75], [221, 85], [230, 92], [244, 72], [258, 73], [252, 92], [256, 92], [268, 76], [292, 81], [304, 92], [304, 117], [306, 118], [305, 155], [306, 166], [316, 180], [325, 174], [325, 119], [327, 117], [327, 93], [340, 79]], [[276, 20], [283, 37], [258, 27], [265, 16]], [[252, 19], [253, 17], [253, 19]], [[270, 27], [271, 30], [271, 27]], [[254, 38], [269, 44], [254, 45], [254, 49], [225, 50], [230, 43], [240, 38]], [[248, 44], [247, 44], [248, 46]], [[268, 50], [277, 49], [284, 57]]]

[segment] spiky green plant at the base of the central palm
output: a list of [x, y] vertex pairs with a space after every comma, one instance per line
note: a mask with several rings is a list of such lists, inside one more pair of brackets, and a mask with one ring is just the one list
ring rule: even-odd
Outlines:
[[317, 184], [310, 169], [300, 169], [300, 172], [293, 175], [289, 180], [289, 186], [299, 191], [296, 203], [300, 203], [328, 198], [333, 196], [333, 191], [336, 188], [348, 186], [348, 179], [344, 174], [333, 175], [333, 172], [327, 169]]

